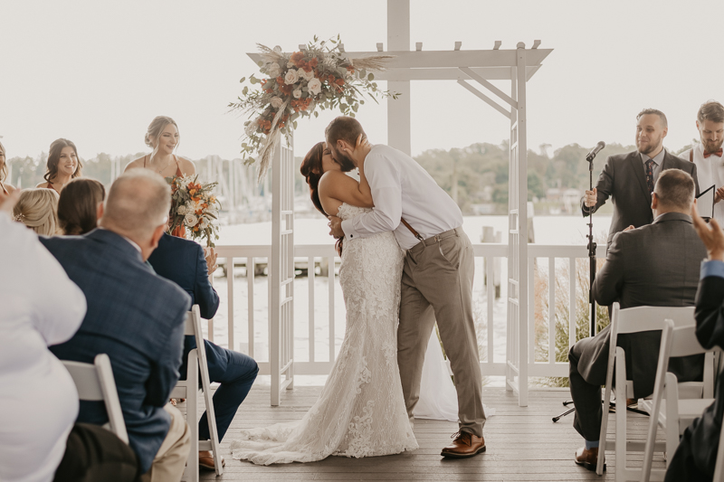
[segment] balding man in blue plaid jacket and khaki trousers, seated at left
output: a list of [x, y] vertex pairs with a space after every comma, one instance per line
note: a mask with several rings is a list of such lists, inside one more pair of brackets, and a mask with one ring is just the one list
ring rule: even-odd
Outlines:
[[[168, 404], [178, 381], [191, 300], [145, 260], [167, 226], [171, 189], [157, 174], [121, 175], [99, 207], [99, 229], [41, 239], [81, 288], [88, 312], [70, 341], [51, 347], [62, 360], [110, 356], [129, 443], [144, 480], [179, 480], [190, 441], [184, 417]], [[100, 402], [81, 402], [79, 421], [108, 420]]]

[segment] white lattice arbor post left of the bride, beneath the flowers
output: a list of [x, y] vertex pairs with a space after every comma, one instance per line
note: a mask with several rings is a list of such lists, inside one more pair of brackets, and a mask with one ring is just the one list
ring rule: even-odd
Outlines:
[[279, 142], [271, 160], [269, 365], [271, 406], [294, 388], [294, 146]]

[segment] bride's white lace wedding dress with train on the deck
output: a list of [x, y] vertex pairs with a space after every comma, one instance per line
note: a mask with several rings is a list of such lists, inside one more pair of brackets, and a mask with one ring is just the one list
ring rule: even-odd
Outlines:
[[[368, 211], [343, 203], [338, 217]], [[233, 458], [269, 465], [417, 449], [397, 368], [403, 260], [392, 232], [345, 240], [339, 283], [347, 327], [319, 399], [300, 421], [242, 430]]]

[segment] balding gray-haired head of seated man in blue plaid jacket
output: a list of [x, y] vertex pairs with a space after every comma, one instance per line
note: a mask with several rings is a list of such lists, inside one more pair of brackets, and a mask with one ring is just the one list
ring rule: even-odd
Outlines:
[[148, 169], [130, 169], [110, 186], [99, 225], [140, 244], [168, 220], [171, 187]]

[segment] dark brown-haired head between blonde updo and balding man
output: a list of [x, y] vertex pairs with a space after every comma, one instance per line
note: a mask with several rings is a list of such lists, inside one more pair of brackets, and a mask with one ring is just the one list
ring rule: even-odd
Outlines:
[[81, 235], [96, 229], [98, 206], [106, 188], [95, 179], [77, 177], [65, 184], [58, 200], [58, 221], [65, 235]]

